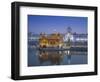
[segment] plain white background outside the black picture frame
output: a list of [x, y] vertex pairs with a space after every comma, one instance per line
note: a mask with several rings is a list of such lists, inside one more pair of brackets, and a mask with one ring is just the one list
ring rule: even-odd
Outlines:
[[[1, 0], [0, 1], [0, 82], [13, 82], [10, 79], [10, 66], [11, 66], [11, 2], [14, 0]], [[18, 1], [18, 0], [16, 0]], [[56, 3], [56, 4], [71, 4], [71, 5], [88, 5], [88, 6], [98, 6], [100, 10], [100, 0], [20, 0], [26, 2], [41, 2], [41, 3]], [[99, 13], [100, 14], [100, 11]], [[100, 21], [100, 16], [98, 16], [98, 22]], [[99, 27], [99, 26], [98, 26]], [[99, 35], [100, 35], [100, 28]], [[99, 41], [100, 42], [100, 37]], [[100, 43], [99, 43], [100, 49]], [[98, 58], [100, 58], [100, 51], [98, 53]], [[98, 60], [100, 62], [100, 60]], [[100, 68], [100, 63], [99, 63]], [[98, 68], [98, 69], [99, 69]], [[99, 71], [100, 73], [100, 71]], [[63, 82], [99, 82], [100, 75], [98, 76], [81, 76], [81, 77], [65, 77], [65, 78], [53, 78], [53, 79], [39, 79], [34, 80], [34, 82], [40, 81], [62, 81]], [[26, 80], [26, 82], [33, 82], [33, 80]], [[21, 81], [22, 82], [22, 81]]]

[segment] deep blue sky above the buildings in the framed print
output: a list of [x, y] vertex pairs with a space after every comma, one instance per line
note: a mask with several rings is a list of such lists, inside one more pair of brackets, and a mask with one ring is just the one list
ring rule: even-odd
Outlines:
[[87, 17], [28, 15], [28, 30], [36, 34], [65, 33], [67, 27], [71, 27], [72, 32], [87, 33], [87, 24]]

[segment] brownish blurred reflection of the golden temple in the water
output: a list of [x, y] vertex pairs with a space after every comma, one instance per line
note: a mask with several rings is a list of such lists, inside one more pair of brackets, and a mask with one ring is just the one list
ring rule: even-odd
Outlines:
[[40, 51], [39, 60], [40, 63], [49, 61], [52, 65], [59, 65], [63, 59], [62, 52], [54, 51], [54, 52], [47, 52], [47, 51]]

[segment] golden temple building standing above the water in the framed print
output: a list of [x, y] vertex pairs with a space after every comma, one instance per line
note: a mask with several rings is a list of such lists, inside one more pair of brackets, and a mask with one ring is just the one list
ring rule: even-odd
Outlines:
[[54, 33], [46, 36], [45, 34], [40, 34], [39, 46], [42, 48], [46, 47], [62, 47], [63, 37], [59, 33]]

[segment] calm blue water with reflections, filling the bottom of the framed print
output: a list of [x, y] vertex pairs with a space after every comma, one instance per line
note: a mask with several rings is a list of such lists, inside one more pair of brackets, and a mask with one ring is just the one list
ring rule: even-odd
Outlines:
[[28, 48], [28, 66], [87, 64], [86, 51], [39, 51]]

